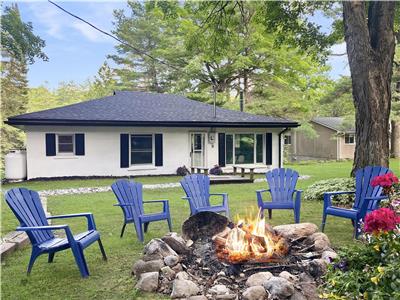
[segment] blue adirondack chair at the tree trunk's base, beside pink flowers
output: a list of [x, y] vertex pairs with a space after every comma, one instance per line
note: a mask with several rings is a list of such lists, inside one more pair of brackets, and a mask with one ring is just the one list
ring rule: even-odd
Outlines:
[[[327, 215], [351, 219], [354, 232], [353, 237], [357, 238], [360, 232], [360, 221], [364, 219], [368, 212], [379, 207], [379, 202], [385, 198], [381, 195], [381, 187], [372, 187], [371, 180], [378, 175], [390, 172], [385, 167], [368, 166], [356, 171], [356, 190], [324, 193], [324, 211], [322, 214], [321, 230], [324, 231]], [[332, 205], [331, 198], [334, 195], [354, 194], [355, 201], [353, 208], [346, 209]]]

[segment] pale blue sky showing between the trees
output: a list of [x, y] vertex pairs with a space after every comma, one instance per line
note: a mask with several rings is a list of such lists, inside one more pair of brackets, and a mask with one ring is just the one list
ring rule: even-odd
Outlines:
[[[113, 29], [113, 11], [127, 7], [126, 1], [55, 1], [66, 10], [82, 17], [97, 27], [110, 32]], [[5, 2], [5, 5], [10, 2]], [[117, 41], [97, 32], [87, 24], [67, 15], [47, 1], [18, 1], [24, 22], [31, 22], [34, 33], [46, 41], [44, 52], [49, 61], [37, 60], [29, 66], [30, 87], [45, 85], [56, 88], [64, 81], [84, 82], [93, 78], [107, 55], [115, 53]], [[3, 4], [4, 5], [4, 4]], [[329, 30], [329, 23], [322, 15], [313, 20]], [[345, 52], [345, 44], [334, 46], [334, 53]], [[109, 61], [112, 65], [112, 62]], [[346, 56], [330, 57], [328, 63], [333, 79], [348, 75]]]

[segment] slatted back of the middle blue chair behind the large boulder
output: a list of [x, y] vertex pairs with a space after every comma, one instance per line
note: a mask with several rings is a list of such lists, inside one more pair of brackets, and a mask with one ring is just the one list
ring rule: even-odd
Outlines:
[[187, 175], [181, 180], [181, 186], [189, 197], [191, 207], [209, 207], [210, 178], [203, 174]]

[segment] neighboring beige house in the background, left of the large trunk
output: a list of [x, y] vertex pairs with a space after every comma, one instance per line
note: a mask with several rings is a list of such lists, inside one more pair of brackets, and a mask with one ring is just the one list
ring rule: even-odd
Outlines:
[[355, 149], [354, 128], [344, 129], [343, 118], [318, 117], [311, 120], [317, 133], [310, 138], [299, 131], [285, 135], [285, 151], [289, 160], [352, 159]]

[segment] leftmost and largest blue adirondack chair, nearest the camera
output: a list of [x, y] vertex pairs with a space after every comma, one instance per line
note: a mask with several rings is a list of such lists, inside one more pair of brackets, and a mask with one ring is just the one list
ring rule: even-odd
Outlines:
[[[39, 194], [25, 188], [14, 188], [6, 192], [6, 202], [20, 222], [17, 231], [25, 231], [32, 244], [32, 254], [28, 264], [28, 275], [31, 273], [36, 258], [41, 254], [48, 254], [48, 262], [52, 263], [58, 251], [71, 248], [82, 277], [89, 276], [83, 250], [94, 242], [98, 242], [103, 259], [107, 260], [106, 253], [96, 230], [94, 218], [91, 213], [59, 215], [46, 217]], [[48, 219], [64, 219], [85, 217], [88, 230], [73, 235], [68, 225], [49, 225]], [[58, 238], [53, 230], [64, 230], [66, 238]]]

